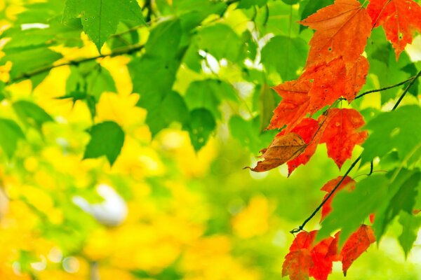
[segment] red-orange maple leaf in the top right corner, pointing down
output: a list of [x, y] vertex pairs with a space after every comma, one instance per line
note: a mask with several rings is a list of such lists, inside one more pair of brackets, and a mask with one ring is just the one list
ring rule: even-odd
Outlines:
[[421, 32], [421, 7], [412, 0], [371, 0], [367, 12], [374, 27], [382, 25], [385, 29], [396, 60], [406, 45], [412, 43], [415, 31]]

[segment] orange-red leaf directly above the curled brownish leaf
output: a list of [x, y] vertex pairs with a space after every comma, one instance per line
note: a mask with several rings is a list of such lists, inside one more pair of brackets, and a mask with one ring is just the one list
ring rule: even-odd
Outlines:
[[282, 128], [286, 125], [286, 132], [295, 127], [307, 115], [309, 107], [309, 92], [312, 83], [308, 80], [291, 80], [276, 85], [274, 90], [281, 95], [282, 100], [274, 110], [268, 130]]

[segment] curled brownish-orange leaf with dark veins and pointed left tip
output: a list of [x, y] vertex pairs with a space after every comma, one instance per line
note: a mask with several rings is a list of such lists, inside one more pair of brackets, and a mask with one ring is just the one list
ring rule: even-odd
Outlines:
[[274, 169], [288, 162], [288, 160], [297, 158], [306, 147], [307, 144], [305, 144], [305, 141], [298, 134], [292, 132], [286, 135], [278, 134], [269, 147], [261, 151], [261, 158], [265, 160], [258, 162], [258, 165], [254, 168], [246, 168], [254, 172], [264, 172]]

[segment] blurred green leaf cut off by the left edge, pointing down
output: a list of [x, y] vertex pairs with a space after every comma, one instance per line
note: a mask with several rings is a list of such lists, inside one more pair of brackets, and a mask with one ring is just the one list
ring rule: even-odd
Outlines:
[[8, 158], [12, 158], [18, 146], [19, 139], [25, 139], [25, 135], [13, 120], [0, 118], [0, 146]]

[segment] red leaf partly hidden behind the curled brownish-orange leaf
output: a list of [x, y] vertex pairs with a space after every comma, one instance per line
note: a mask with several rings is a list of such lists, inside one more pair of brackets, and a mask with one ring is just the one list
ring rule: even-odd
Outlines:
[[[305, 118], [299, 123], [291, 132], [294, 132], [305, 141], [307, 148], [297, 158], [287, 162], [288, 176], [293, 173], [295, 168], [300, 165], [305, 165], [316, 152], [317, 144], [319, 144], [319, 137], [314, 137], [314, 134], [319, 130], [319, 122], [313, 118]], [[282, 133], [282, 132], [281, 132]]]

